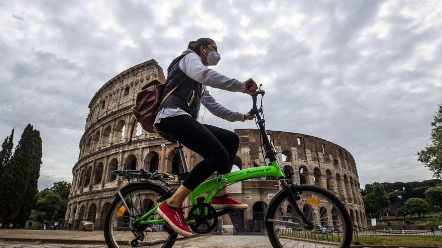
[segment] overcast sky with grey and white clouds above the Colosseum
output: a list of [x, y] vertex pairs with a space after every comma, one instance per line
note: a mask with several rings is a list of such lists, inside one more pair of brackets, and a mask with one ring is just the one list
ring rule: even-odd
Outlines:
[[[355, 157], [361, 185], [430, 179], [415, 153], [442, 103], [439, 1], [2, 1], [0, 140], [40, 130], [39, 188], [72, 181], [87, 105], [125, 69], [166, 69], [200, 37], [216, 71], [263, 84], [266, 127], [327, 139]], [[246, 112], [247, 95], [215, 98]], [[253, 128], [206, 111], [204, 123]]]

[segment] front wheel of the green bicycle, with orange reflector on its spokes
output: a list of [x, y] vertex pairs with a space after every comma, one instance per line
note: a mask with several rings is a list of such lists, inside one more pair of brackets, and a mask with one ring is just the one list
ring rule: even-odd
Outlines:
[[296, 185], [296, 204], [312, 225], [304, 223], [287, 194], [278, 194], [266, 216], [267, 233], [273, 248], [350, 247], [353, 227], [344, 204], [329, 191], [314, 185]]

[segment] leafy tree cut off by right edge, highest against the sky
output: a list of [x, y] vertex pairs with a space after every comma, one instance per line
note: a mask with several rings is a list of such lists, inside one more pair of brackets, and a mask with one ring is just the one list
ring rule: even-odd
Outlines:
[[431, 122], [431, 144], [417, 152], [417, 160], [422, 162], [433, 176], [442, 179], [442, 104]]

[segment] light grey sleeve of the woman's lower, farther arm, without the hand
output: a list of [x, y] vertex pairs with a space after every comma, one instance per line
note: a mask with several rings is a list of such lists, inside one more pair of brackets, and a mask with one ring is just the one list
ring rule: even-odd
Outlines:
[[240, 112], [232, 111], [222, 104], [216, 102], [216, 100], [210, 95], [208, 90], [204, 91], [204, 95], [201, 100], [202, 105], [204, 105], [210, 113], [219, 118], [228, 120], [228, 121], [243, 121], [244, 122], [244, 114]]

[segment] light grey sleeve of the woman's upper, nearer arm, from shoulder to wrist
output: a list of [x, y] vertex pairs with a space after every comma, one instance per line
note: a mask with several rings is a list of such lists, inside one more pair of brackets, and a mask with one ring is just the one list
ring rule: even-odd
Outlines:
[[228, 91], [242, 93], [245, 91], [245, 82], [241, 82], [234, 78], [231, 79], [207, 68], [201, 63], [201, 58], [193, 52], [184, 56], [178, 66], [189, 78], [203, 85]]

